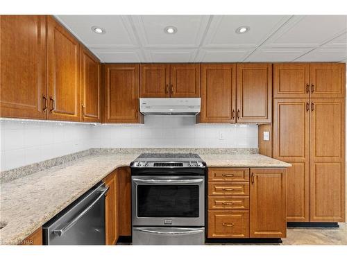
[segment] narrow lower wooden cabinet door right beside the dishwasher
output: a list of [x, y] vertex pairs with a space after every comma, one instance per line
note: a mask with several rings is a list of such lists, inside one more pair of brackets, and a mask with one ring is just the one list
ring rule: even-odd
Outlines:
[[108, 193], [105, 197], [105, 243], [115, 245], [117, 241], [117, 188], [116, 174], [110, 173], [104, 180]]

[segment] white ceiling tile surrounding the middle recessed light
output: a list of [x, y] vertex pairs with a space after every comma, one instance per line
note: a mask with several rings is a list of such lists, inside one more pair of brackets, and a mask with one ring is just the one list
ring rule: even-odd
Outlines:
[[[141, 15], [131, 16], [135, 30], [145, 48], [196, 48], [208, 26], [207, 15]], [[167, 26], [177, 32], [164, 33]]]

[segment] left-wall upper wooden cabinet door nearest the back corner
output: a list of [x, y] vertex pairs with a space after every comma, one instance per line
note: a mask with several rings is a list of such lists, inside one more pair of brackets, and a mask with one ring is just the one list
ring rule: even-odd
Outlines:
[[90, 51], [81, 46], [81, 118], [100, 122], [101, 64]]

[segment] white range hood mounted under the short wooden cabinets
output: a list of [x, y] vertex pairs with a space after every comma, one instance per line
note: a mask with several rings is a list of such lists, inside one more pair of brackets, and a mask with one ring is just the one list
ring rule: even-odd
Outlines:
[[182, 114], [200, 113], [201, 98], [139, 98], [139, 112], [142, 114]]

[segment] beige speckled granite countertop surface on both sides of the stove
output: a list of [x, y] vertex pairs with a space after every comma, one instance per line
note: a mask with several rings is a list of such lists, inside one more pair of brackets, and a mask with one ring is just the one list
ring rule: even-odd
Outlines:
[[[139, 153], [92, 154], [19, 177], [0, 186], [0, 244], [17, 244], [53, 218], [71, 202], [121, 166], [129, 166]], [[201, 154], [210, 167], [291, 166], [258, 154]]]

